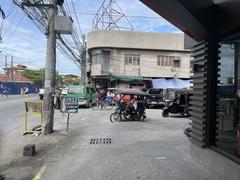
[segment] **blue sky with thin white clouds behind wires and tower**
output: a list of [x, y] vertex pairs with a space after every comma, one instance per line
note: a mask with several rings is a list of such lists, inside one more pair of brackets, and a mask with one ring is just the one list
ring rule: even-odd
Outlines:
[[[92, 20], [103, 0], [72, 0], [82, 32], [87, 34], [92, 29]], [[129, 17], [135, 31], [145, 32], [181, 32], [176, 27], [161, 18], [151, 9], [138, 0], [118, 0], [123, 12]], [[65, 0], [70, 11], [73, 12], [71, 0]], [[23, 14], [21, 9], [12, 4], [12, 0], [0, 1], [2, 9], [7, 15], [2, 23], [0, 44], [0, 68], [4, 66], [4, 56], [7, 55], [10, 63], [11, 56], [14, 64], [25, 64], [29, 68], [41, 68], [45, 65], [46, 37]], [[86, 13], [86, 14], [85, 14]], [[137, 17], [131, 17], [137, 16]], [[147, 16], [153, 18], [141, 18]], [[74, 19], [74, 18], [73, 18]], [[0, 19], [0, 24], [2, 19]], [[74, 23], [76, 23], [74, 19]], [[60, 52], [57, 53], [57, 70], [61, 74], [76, 74], [80, 71], [76, 65]]]

